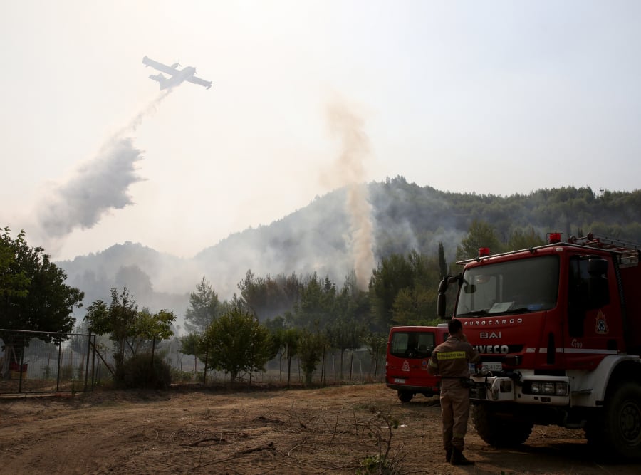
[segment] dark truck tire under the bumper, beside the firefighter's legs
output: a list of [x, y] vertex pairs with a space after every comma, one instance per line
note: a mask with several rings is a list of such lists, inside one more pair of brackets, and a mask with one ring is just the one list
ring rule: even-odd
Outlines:
[[493, 447], [521, 445], [530, 437], [534, 427], [529, 421], [498, 417], [488, 404], [474, 406], [472, 422], [479, 437]]

